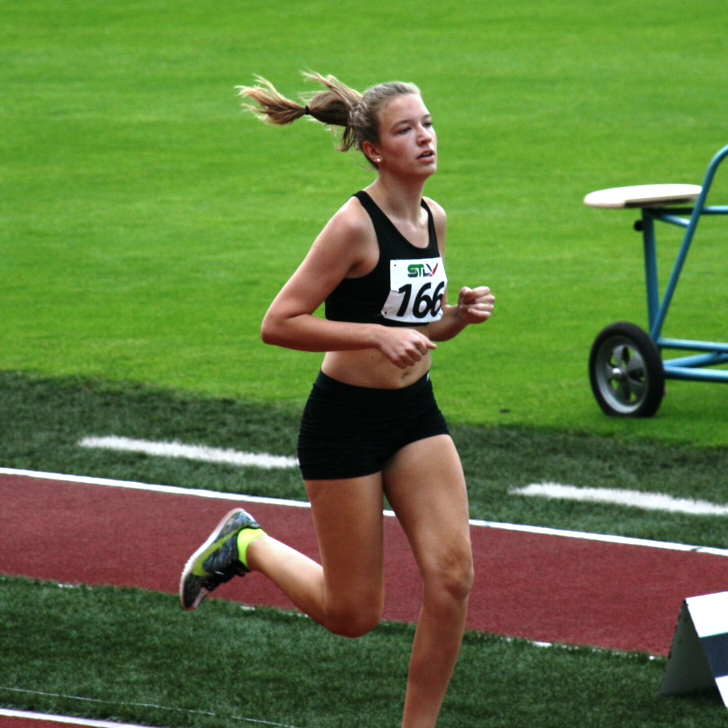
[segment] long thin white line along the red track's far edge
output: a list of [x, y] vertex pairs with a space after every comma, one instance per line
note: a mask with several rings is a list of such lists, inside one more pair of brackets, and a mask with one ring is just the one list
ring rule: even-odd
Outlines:
[[[295, 501], [284, 498], [264, 498], [261, 496], [241, 495], [234, 493], [219, 493], [211, 490], [197, 490], [196, 488], [180, 488], [173, 485], [150, 485], [148, 483], [135, 483], [125, 480], [111, 480], [108, 478], [92, 478], [83, 475], [64, 475], [61, 473], [44, 473], [35, 470], [17, 470], [15, 468], [0, 468], [0, 475], [11, 475], [24, 478], [35, 478], [37, 480], [58, 480], [65, 483], [79, 483], [84, 485], [99, 485], [112, 488], [130, 488], [132, 490], [144, 490], [155, 493], [168, 493], [170, 495], [186, 495], [193, 498], [212, 498], [216, 500], [236, 501], [246, 503], [263, 503], [289, 508], [310, 508], [307, 501]], [[384, 511], [385, 516], [394, 518], [393, 511]], [[667, 551], [691, 551], [701, 554], [712, 554], [714, 556], [727, 556], [728, 549], [718, 549], [710, 546], [691, 546], [682, 543], [670, 543], [669, 541], [651, 541], [643, 538], [630, 538], [628, 536], [611, 536], [602, 533], [586, 533], [582, 531], [564, 531], [558, 528], [545, 528], [542, 526], [524, 526], [514, 523], [498, 523], [496, 521], [482, 521], [476, 518], [470, 519], [470, 525], [474, 528], [492, 528], [503, 531], [515, 531], [519, 533], [532, 533], [543, 536], [561, 536], [563, 538], [577, 538], [584, 541], [598, 541], [602, 543], [621, 544], [625, 546], [644, 546], [646, 548], [665, 549]]]

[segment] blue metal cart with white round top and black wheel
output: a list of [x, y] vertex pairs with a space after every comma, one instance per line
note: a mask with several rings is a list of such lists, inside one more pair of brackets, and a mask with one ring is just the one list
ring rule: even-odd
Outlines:
[[[708, 206], [715, 174], [728, 156], [723, 147], [711, 160], [702, 185], [638, 185], [592, 192], [584, 198], [589, 207], [639, 209], [635, 229], [642, 233], [647, 283], [649, 332], [633, 323], [605, 328], [594, 340], [589, 355], [589, 381], [602, 410], [619, 417], [651, 417], [662, 403], [666, 379], [728, 382], [728, 344], [672, 339], [662, 335], [680, 274], [703, 215], [728, 215], [728, 206]], [[665, 291], [660, 296], [657, 273], [655, 223], [685, 229], [682, 245]], [[664, 359], [666, 350], [682, 352]]]

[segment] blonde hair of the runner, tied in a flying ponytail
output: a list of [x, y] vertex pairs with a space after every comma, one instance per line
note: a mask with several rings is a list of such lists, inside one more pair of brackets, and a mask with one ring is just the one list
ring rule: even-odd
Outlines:
[[[398, 96], [420, 95], [417, 86], [401, 81], [382, 83], [362, 94], [341, 83], [335, 76], [318, 73], [304, 73], [303, 76], [307, 81], [321, 84], [325, 90], [301, 95], [304, 103], [300, 104], [280, 94], [270, 81], [256, 76], [256, 86], [237, 87], [240, 96], [255, 102], [243, 104], [243, 107], [277, 126], [292, 124], [308, 115], [330, 127], [342, 127], [344, 131], [338, 146], [342, 152], [351, 147], [363, 151], [362, 145], [367, 141], [377, 144], [382, 108]], [[374, 162], [371, 163], [376, 167]]]

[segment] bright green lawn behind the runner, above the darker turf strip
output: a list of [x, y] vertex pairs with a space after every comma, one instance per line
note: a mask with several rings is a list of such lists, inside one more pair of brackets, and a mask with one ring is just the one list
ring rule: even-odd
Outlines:
[[[262, 73], [295, 94], [315, 68], [412, 79], [434, 114], [451, 285], [487, 282], [499, 301], [438, 353], [452, 417], [728, 444], [728, 388], [674, 384], [654, 422], [597, 410], [589, 347], [608, 323], [644, 324], [644, 283], [634, 216], [582, 205], [702, 180], [726, 143], [719, 0], [1, 12], [1, 368], [299, 404], [316, 359], [266, 349], [259, 322], [371, 173], [320, 128], [243, 116], [234, 86]], [[666, 333], [721, 340], [721, 231], [706, 227]]]

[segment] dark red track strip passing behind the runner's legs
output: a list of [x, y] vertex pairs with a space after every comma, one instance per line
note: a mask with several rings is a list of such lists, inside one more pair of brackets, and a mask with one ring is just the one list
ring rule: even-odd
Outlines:
[[[242, 504], [266, 530], [317, 555], [310, 511], [25, 475], [0, 475], [0, 573], [177, 593], [189, 554]], [[667, 655], [683, 600], [724, 591], [722, 555], [474, 526], [468, 628], [542, 642]], [[385, 619], [414, 622], [421, 584], [399, 524], [386, 518]], [[249, 574], [219, 597], [293, 608]]]

